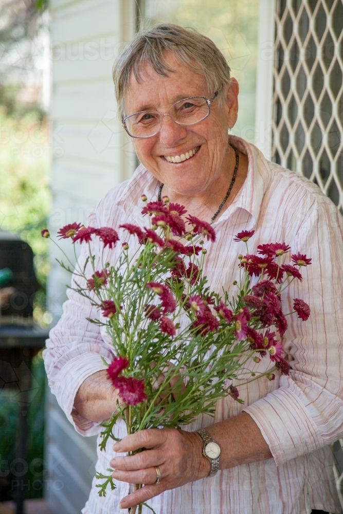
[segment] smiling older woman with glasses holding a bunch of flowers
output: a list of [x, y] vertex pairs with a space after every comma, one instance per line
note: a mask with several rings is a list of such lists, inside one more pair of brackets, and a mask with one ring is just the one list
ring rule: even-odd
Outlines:
[[[284, 304], [303, 298], [312, 315], [301, 325], [293, 316], [283, 337], [290, 376], [243, 386], [244, 406], [228, 396], [214, 419], [198, 416], [183, 430], [127, 436], [120, 420], [114, 435], [121, 442], [109, 442], [97, 463], [99, 472], [114, 469], [118, 487], [99, 498], [94, 481], [82, 512], [115, 514], [139, 502], [157, 514], [340, 512], [329, 447], [343, 436], [343, 244], [336, 207], [312, 182], [228, 135], [239, 87], [205, 36], [168, 24], [138, 34], [120, 54], [114, 81], [122, 126], [141, 164], [100, 201], [89, 225], [144, 226], [137, 207], [142, 192], [149, 200], [168, 195], [213, 224], [217, 242], [206, 243], [204, 273], [218, 291], [230, 291], [237, 279], [233, 234], [254, 229], [254, 251], [285, 241], [312, 265], [302, 283], [287, 289]], [[112, 251], [115, 259], [118, 250]], [[117, 394], [101, 360], [114, 356], [106, 333], [86, 320], [96, 317], [94, 307], [73, 291], [68, 297], [47, 342], [46, 369], [70, 422], [93, 435], [115, 410]], [[200, 428], [206, 430], [199, 434]], [[205, 456], [209, 438], [216, 445]], [[149, 450], [125, 456], [141, 447]], [[133, 491], [135, 483], [145, 487]]]

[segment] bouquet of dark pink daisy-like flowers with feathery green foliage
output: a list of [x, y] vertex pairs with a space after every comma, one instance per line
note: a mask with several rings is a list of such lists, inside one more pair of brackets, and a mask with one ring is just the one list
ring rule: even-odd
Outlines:
[[[238, 255], [237, 295], [230, 297], [224, 289], [219, 294], [210, 290], [202, 272], [204, 240], [215, 241], [212, 226], [186, 217], [185, 208], [167, 197], [149, 203], [145, 195], [141, 198], [147, 226], [120, 226], [125, 235], [121, 247], [110, 227], [73, 223], [58, 232], [60, 238], [88, 244], [84, 263], [60, 264], [74, 273], [75, 290], [99, 310], [99, 318], [88, 321], [106, 327], [116, 356], [105, 363], [118, 400], [116, 411], [102, 424], [101, 449], [115, 439], [119, 417], [128, 434], [182, 428], [198, 414], [213, 415], [216, 402], [226, 395], [242, 402], [235, 381], [263, 375], [274, 380], [275, 370], [288, 374], [280, 339], [286, 316], [293, 313], [284, 315], [281, 293], [293, 280], [301, 281], [299, 268], [311, 263], [297, 254], [291, 257], [293, 264], [286, 264], [291, 249], [285, 243], [260, 245], [259, 255], [249, 254], [254, 231], [242, 231], [234, 238], [246, 247], [246, 254]], [[49, 237], [47, 230], [42, 235]], [[89, 245], [93, 237], [100, 238], [103, 249], [117, 245], [115, 262], [101, 262], [95, 269]], [[302, 320], [310, 316], [301, 299], [294, 299], [293, 312]], [[249, 363], [251, 367], [263, 358], [273, 362], [267, 373], [249, 371]], [[98, 478], [100, 495], [107, 486], [115, 488], [111, 473]]]

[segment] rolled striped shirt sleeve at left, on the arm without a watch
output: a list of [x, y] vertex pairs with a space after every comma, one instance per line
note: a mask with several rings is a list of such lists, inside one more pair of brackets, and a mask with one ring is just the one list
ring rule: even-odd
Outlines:
[[[89, 216], [88, 224], [97, 226], [96, 223], [93, 213]], [[99, 255], [95, 246], [92, 249], [95, 255]], [[88, 245], [83, 244], [79, 263], [84, 263], [87, 255]], [[88, 269], [86, 276], [91, 276], [91, 273]], [[72, 284], [74, 279], [75, 276]], [[46, 341], [46, 350], [43, 352], [45, 369], [51, 392], [56, 395], [70, 423], [80, 434], [94, 435], [99, 432], [99, 424], [88, 421], [73, 411], [74, 400], [79, 387], [88, 376], [106, 369], [101, 356], [111, 362], [113, 354], [104, 342], [99, 326], [86, 319], [99, 317], [96, 307], [92, 307], [87, 298], [73, 289], [67, 290], [67, 297], [63, 314]]]

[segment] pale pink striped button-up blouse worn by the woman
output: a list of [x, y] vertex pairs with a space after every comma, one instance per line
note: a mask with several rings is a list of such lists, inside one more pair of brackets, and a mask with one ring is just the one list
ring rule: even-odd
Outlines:
[[[233, 242], [233, 235], [254, 229], [250, 253], [259, 244], [286, 242], [294, 253], [312, 258], [312, 265], [302, 268], [303, 282], [294, 281], [282, 298], [284, 312], [292, 310], [293, 298], [302, 298], [311, 307], [311, 317], [306, 322], [296, 315], [288, 318], [282, 344], [289, 376], [277, 372], [274, 381], [263, 377], [241, 386], [244, 405], [228, 396], [218, 402], [214, 419], [200, 415], [185, 427], [193, 431], [243, 410], [257, 423], [273, 458], [220, 470], [212, 478], [166, 491], [148, 504], [157, 514], [308, 514], [312, 509], [339, 513], [329, 445], [343, 437], [343, 219], [314, 183], [268, 162], [243, 139], [230, 136], [230, 141], [248, 156], [248, 174], [232, 204], [213, 224], [216, 242], [205, 244], [209, 285], [218, 292], [222, 287], [231, 290], [238, 278], [237, 255], [245, 250], [244, 243]], [[89, 225], [144, 226], [140, 195], [156, 199], [158, 185], [140, 165], [129, 181], [99, 202]], [[81, 261], [87, 252], [87, 245], [82, 246]], [[114, 262], [119, 248], [106, 250], [104, 260]], [[99, 258], [97, 241], [93, 251]], [[86, 377], [105, 369], [101, 356], [107, 361], [113, 358], [103, 327], [86, 320], [96, 317], [95, 308], [69, 290], [63, 315], [44, 351], [51, 391], [70, 423], [85, 436], [98, 434], [100, 427], [73, 409], [75, 395]], [[262, 359], [252, 366], [266, 371], [272, 364]], [[116, 437], [125, 435], [123, 421], [114, 432]], [[106, 473], [113, 455], [112, 442], [98, 451], [97, 471]], [[118, 504], [129, 493], [129, 484], [118, 482], [117, 489], [100, 498], [95, 483], [83, 514], [126, 512]], [[151, 511], [143, 507], [143, 512]]]

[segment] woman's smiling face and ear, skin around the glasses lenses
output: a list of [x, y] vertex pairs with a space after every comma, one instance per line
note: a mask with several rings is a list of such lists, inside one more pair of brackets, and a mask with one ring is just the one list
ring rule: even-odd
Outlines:
[[[211, 98], [205, 78], [180, 64], [172, 54], [166, 54], [168, 66], [174, 72], [161, 77], [150, 66], [141, 73], [138, 83], [132, 75], [125, 95], [125, 115], [139, 111], [166, 113], [178, 100], [191, 96]], [[237, 119], [238, 84], [231, 79], [220, 107], [218, 97], [211, 103], [211, 113], [195, 125], [178, 125], [170, 116], [164, 116], [161, 129], [147, 139], [133, 139], [140, 162], [159, 181], [182, 195], [201, 194], [228, 170], [228, 128]], [[180, 156], [196, 151], [183, 162], [169, 162], [166, 157]], [[192, 152], [191, 152], [192, 153]]]

